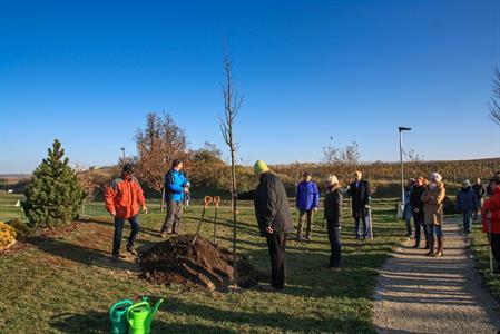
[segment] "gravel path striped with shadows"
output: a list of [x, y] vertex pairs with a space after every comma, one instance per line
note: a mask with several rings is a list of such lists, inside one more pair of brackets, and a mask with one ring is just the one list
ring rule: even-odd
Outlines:
[[444, 226], [444, 257], [427, 257], [413, 239], [380, 269], [373, 322], [379, 333], [497, 333], [499, 305], [481, 286], [474, 259], [459, 232]]

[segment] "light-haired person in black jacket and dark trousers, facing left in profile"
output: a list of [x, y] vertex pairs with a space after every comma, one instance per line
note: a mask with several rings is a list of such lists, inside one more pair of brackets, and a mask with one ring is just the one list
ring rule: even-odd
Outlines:
[[332, 272], [337, 272], [341, 266], [342, 243], [342, 191], [335, 175], [329, 175], [325, 179], [326, 196], [324, 200], [326, 229], [330, 242], [330, 263]]

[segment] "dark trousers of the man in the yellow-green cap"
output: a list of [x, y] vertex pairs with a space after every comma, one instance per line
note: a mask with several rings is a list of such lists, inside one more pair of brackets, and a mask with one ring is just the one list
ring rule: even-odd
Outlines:
[[286, 234], [273, 233], [266, 237], [271, 258], [271, 285], [276, 289], [285, 287]]

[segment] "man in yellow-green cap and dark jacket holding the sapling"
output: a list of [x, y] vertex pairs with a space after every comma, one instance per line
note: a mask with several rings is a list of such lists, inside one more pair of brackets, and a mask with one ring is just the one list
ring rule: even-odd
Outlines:
[[271, 257], [271, 285], [275, 289], [285, 287], [285, 246], [286, 234], [293, 232], [285, 186], [280, 178], [269, 171], [267, 165], [258, 160], [254, 165], [254, 174], [258, 178], [255, 190], [255, 218], [261, 236], [267, 240]]

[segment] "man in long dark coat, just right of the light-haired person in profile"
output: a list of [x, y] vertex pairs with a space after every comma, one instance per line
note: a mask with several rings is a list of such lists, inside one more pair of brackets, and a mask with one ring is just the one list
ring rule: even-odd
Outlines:
[[[354, 181], [349, 186], [349, 193], [351, 196], [352, 215], [356, 224], [356, 239], [367, 237], [366, 228], [366, 213], [370, 205], [370, 183], [363, 179], [363, 175], [360, 170], [354, 173]], [[361, 230], [360, 220], [363, 223], [363, 230]]]

